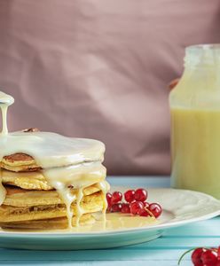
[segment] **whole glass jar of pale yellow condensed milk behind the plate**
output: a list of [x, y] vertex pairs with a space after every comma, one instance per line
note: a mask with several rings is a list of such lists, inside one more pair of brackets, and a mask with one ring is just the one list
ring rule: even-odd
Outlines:
[[220, 199], [220, 44], [186, 48], [169, 104], [171, 186]]

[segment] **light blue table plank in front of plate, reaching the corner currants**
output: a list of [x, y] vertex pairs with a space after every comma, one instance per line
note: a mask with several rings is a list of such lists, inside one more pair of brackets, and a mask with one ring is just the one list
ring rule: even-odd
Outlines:
[[[83, 251], [83, 252], [11, 252], [1, 253], [2, 262], [74, 262], [74, 261], [177, 261], [185, 249], [179, 250], [131, 250], [122, 251], [119, 249], [103, 251]], [[189, 259], [189, 255], [185, 260]]]

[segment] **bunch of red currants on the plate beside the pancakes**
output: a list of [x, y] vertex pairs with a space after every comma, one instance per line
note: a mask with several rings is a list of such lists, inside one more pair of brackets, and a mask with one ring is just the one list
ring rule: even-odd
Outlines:
[[[122, 197], [126, 202], [122, 202]], [[153, 216], [155, 218], [161, 215], [161, 205], [158, 203], [146, 202], [147, 192], [145, 189], [129, 190], [124, 192], [106, 193], [107, 211], [121, 212], [122, 214]]]

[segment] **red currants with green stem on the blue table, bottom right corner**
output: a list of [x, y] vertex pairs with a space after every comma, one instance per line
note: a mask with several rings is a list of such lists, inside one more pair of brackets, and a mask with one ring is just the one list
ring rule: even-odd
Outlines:
[[[185, 254], [181, 256], [178, 264], [180, 264]], [[191, 258], [194, 266], [220, 266], [220, 246], [218, 248], [198, 247], [193, 250]]]

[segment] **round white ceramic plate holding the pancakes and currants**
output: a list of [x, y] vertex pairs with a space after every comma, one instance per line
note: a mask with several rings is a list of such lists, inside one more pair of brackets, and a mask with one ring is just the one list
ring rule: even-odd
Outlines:
[[[113, 191], [126, 191], [114, 187]], [[159, 202], [163, 213], [158, 223], [122, 227], [108, 231], [0, 231], [0, 247], [34, 250], [76, 250], [128, 246], [150, 241], [162, 231], [220, 215], [220, 200], [200, 192], [174, 189], [147, 189], [150, 202]], [[132, 217], [130, 217], [131, 219]]]

